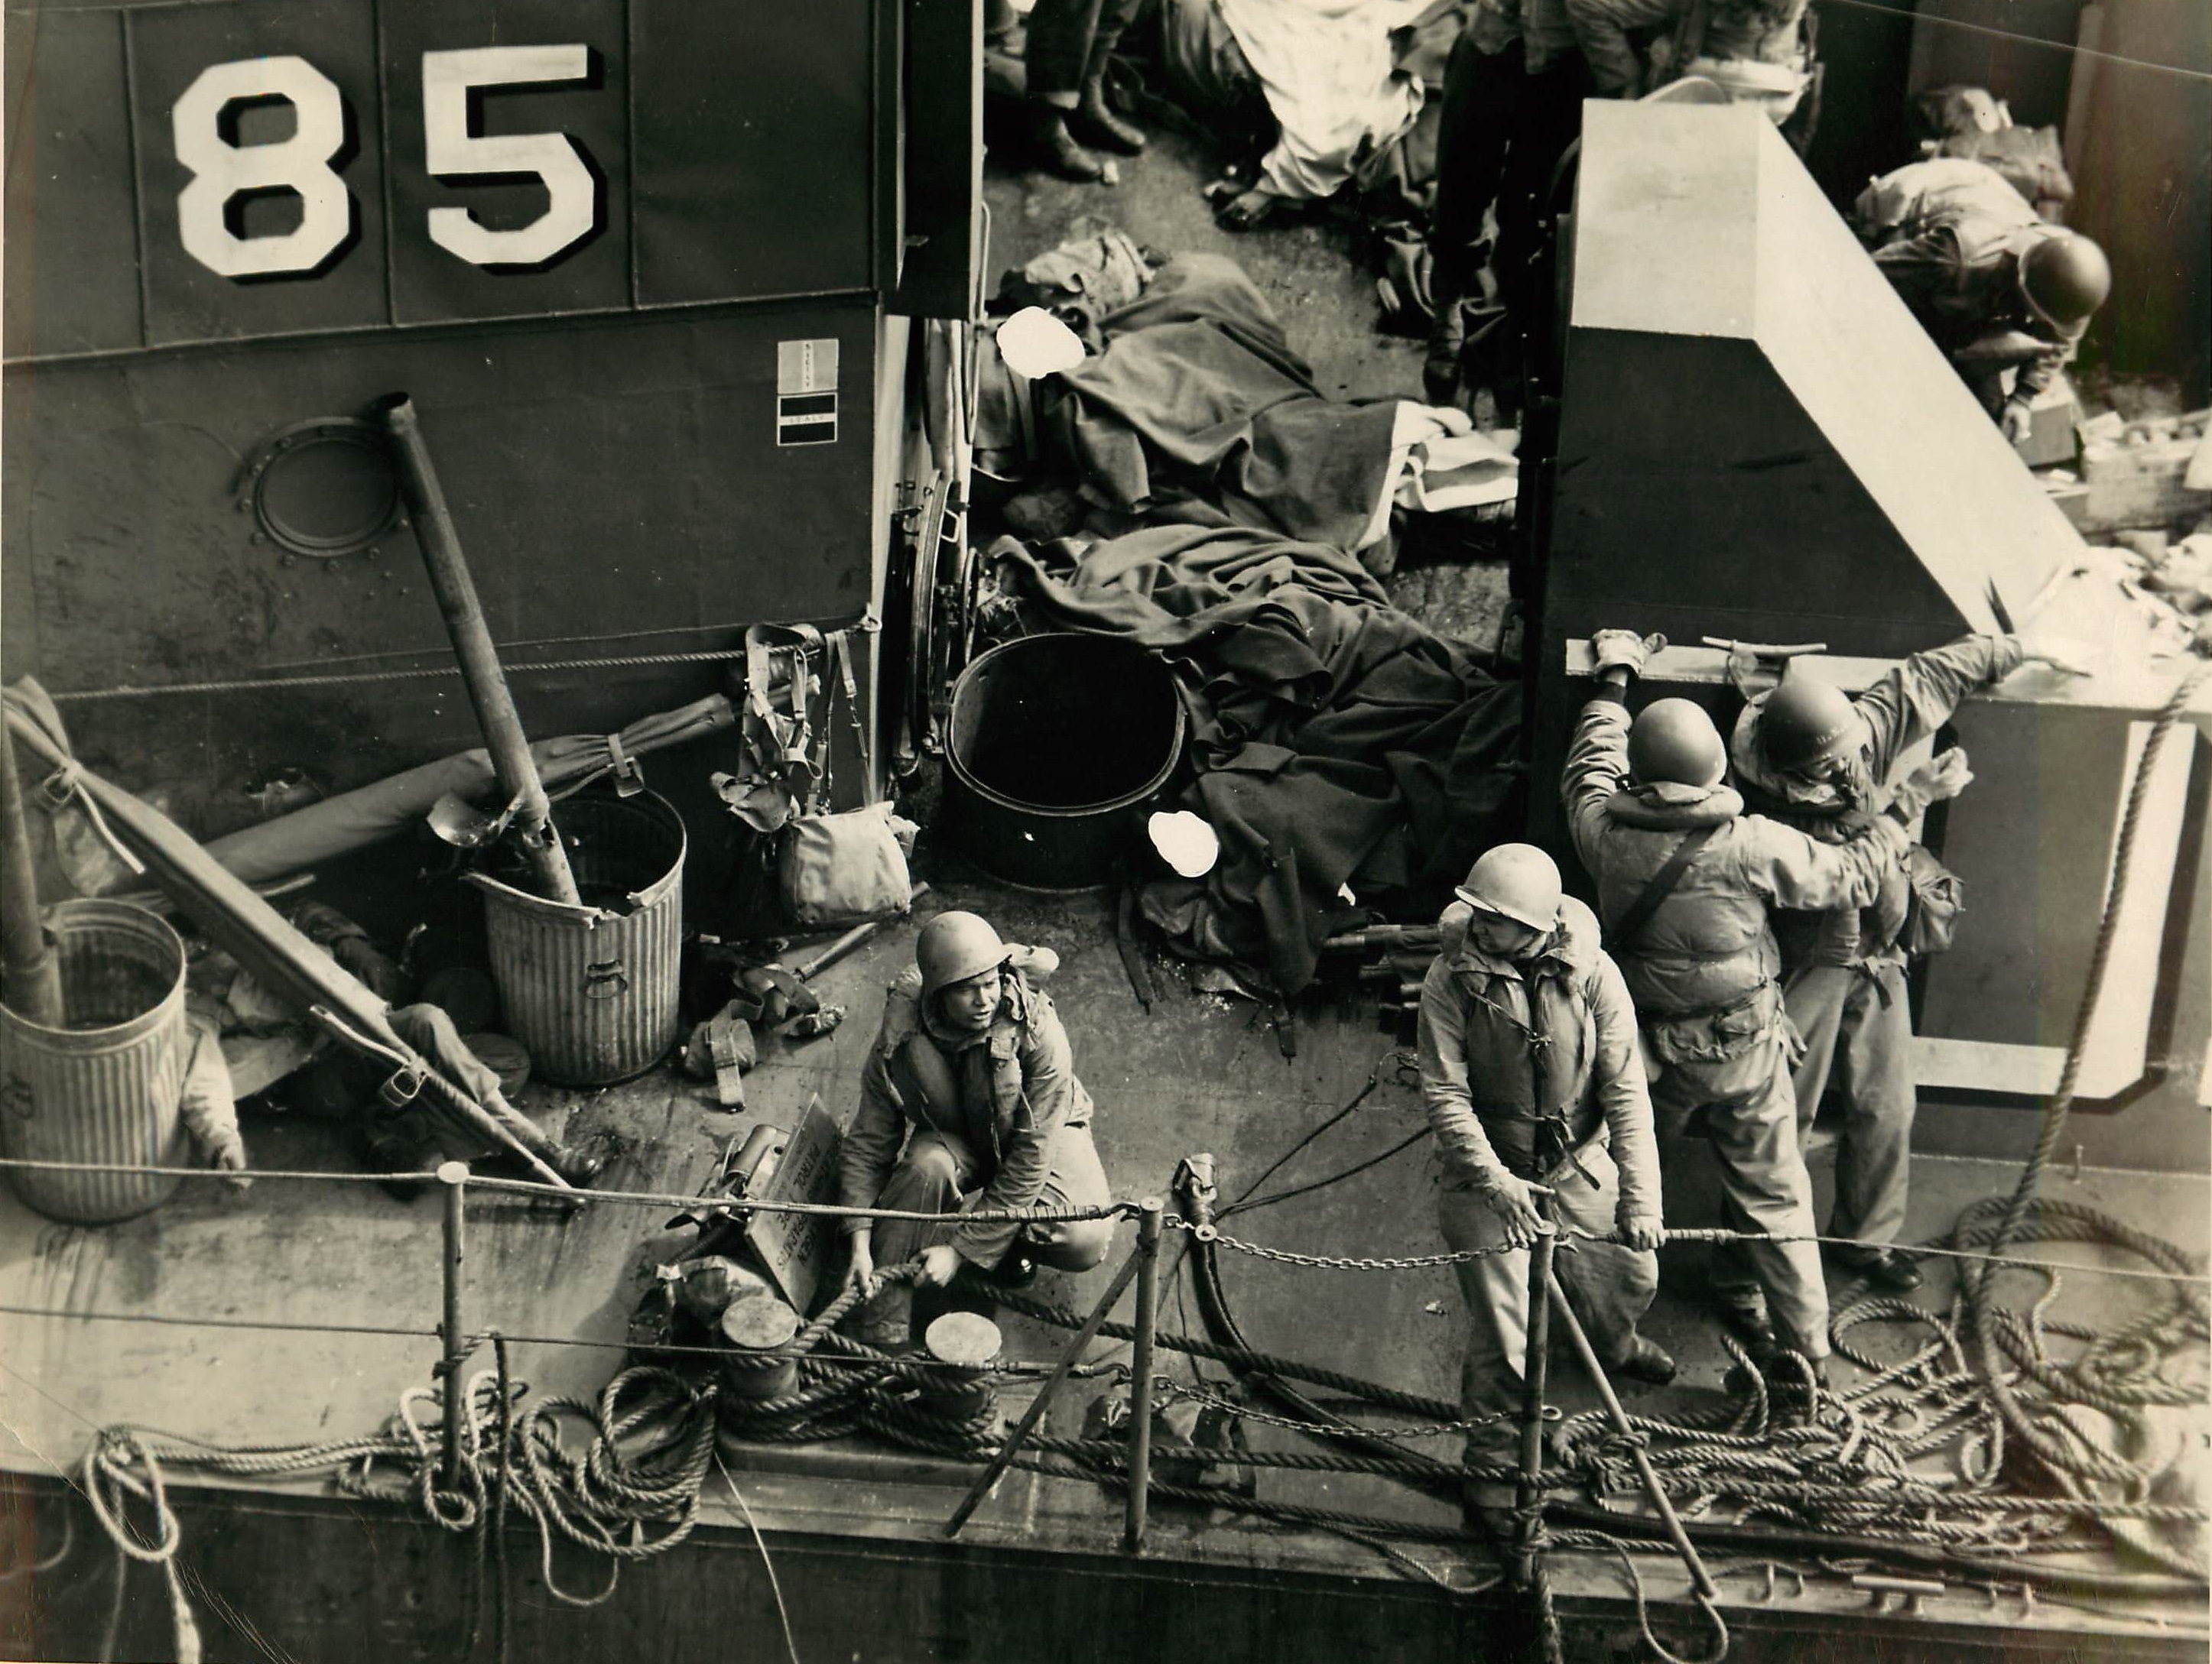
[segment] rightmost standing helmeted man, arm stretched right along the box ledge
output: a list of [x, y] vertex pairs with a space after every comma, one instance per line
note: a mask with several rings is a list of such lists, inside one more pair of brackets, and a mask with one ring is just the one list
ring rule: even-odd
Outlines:
[[[1792, 672], [1736, 718], [1730, 780], [1750, 809], [1825, 844], [1843, 844], [1860, 822], [1898, 802], [1916, 818], [1973, 780], [1966, 754], [1944, 751], [1891, 787], [1898, 760], [1949, 723], [1960, 701], [2004, 681], [2024, 659], [2070, 670], [2035, 641], [1964, 636], [1913, 654], [1856, 698]], [[1843, 1096], [1829, 1235], [1882, 1244], [1836, 1249], [1832, 1257], [1889, 1293], [1920, 1286], [1911, 1260], [1887, 1246], [1905, 1229], [1916, 1109], [1907, 959], [1898, 941], [1909, 904], [1907, 868], [1891, 864], [1863, 906], [1774, 919], [1783, 999], [1805, 1041], [1794, 1078], [1801, 1138], [1829, 1081]]]

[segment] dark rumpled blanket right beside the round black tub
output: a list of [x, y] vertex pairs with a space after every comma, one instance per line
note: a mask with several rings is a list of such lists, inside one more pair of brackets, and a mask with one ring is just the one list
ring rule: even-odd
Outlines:
[[1259, 990], [1314, 979], [1360, 908], [1436, 917], [1520, 824], [1520, 687], [1394, 610], [1340, 548], [1241, 526], [1155, 526], [1077, 552], [1002, 539], [1060, 625], [1157, 650], [1190, 714], [1181, 807], [1221, 835], [1201, 880], [1139, 902], [1170, 946]]

